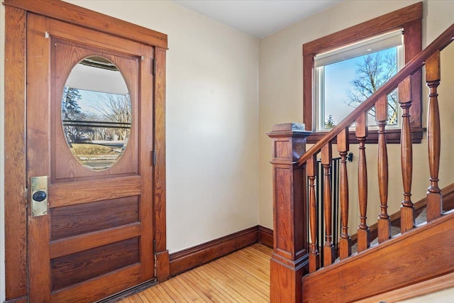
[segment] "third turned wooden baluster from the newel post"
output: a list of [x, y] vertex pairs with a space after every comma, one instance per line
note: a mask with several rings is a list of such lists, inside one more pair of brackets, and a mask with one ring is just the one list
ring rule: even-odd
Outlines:
[[341, 200], [341, 238], [339, 239], [339, 257], [341, 260], [352, 254], [352, 240], [348, 234], [348, 177], [347, 154], [349, 149], [348, 128], [338, 134], [338, 152], [341, 155], [341, 171], [339, 172], [339, 187]]

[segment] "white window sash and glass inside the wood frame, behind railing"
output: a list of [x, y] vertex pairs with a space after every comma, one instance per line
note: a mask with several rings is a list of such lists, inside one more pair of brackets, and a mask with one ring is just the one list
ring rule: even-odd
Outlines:
[[[403, 66], [402, 30], [314, 57], [316, 131], [329, 131]], [[399, 126], [397, 94], [389, 94], [388, 125]], [[369, 112], [375, 125], [375, 111]]]

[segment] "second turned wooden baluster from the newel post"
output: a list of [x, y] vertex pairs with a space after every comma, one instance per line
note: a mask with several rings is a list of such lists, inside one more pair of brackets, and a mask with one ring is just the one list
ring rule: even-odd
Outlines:
[[333, 152], [331, 143], [321, 148], [321, 165], [323, 165], [323, 214], [325, 215], [325, 246], [323, 246], [323, 266], [331, 265], [335, 258], [332, 221], [333, 206], [331, 199], [331, 162]]

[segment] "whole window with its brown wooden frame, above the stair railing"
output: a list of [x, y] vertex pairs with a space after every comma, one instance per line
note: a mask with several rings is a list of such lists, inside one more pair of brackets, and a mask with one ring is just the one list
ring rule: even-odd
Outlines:
[[[314, 143], [421, 51], [422, 4], [366, 21], [303, 45], [304, 123]], [[372, 76], [372, 77], [371, 77]], [[421, 72], [413, 76], [411, 128], [420, 142]], [[400, 106], [390, 94], [387, 141], [400, 140]], [[369, 125], [375, 126], [373, 109]], [[367, 142], [376, 141], [370, 130]], [[355, 140], [354, 134], [350, 139]]]

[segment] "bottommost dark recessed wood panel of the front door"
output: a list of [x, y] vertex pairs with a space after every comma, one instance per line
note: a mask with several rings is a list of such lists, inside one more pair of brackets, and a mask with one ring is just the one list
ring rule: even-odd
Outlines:
[[139, 238], [52, 259], [52, 291], [119, 270], [139, 260]]

